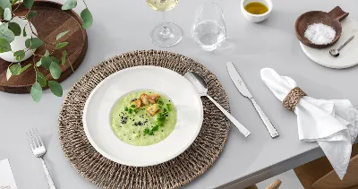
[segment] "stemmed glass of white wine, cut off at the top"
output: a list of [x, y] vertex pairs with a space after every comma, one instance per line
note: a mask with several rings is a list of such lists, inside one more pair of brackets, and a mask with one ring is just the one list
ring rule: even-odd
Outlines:
[[150, 39], [159, 47], [175, 46], [182, 38], [182, 29], [174, 23], [166, 22], [166, 11], [172, 10], [179, 0], [146, 0], [150, 8], [163, 12], [163, 22], [150, 31]]

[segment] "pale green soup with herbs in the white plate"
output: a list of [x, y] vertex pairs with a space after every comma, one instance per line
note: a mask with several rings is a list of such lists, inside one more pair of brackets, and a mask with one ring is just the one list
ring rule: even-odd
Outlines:
[[[146, 105], [146, 100], [141, 100], [142, 94], [160, 97], [155, 99], [155, 102], [147, 102]], [[137, 107], [138, 104], [141, 104], [141, 107]], [[154, 112], [156, 113], [153, 115]], [[175, 106], [170, 99], [158, 92], [132, 92], [119, 99], [112, 109], [111, 126], [115, 135], [132, 145], [147, 146], [161, 142], [173, 132], [175, 125]]]

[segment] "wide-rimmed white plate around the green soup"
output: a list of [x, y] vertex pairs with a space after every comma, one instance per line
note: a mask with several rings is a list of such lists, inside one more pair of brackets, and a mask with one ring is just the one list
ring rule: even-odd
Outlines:
[[[154, 90], [172, 99], [177, 111], [175, 129], [165, 140], [134, 146], [116, 137], [110, 125], [112, 107], [135, 90]], [[107, 159], [133, 166], [153, 166], [183, 153], [200, 132], [203, 107], [192, 83], [179, 73], [156, 66], [136, 66], [107, 77], [90, 93], [82, 122], [90, 144]]]

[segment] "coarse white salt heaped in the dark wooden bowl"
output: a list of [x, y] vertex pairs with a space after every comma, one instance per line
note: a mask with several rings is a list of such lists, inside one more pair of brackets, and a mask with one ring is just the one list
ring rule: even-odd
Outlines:
[[304, 31], [304, 37], [315, 45], [327, 45], [336, 37], [336, 30], [323, 23], [313, 23]]

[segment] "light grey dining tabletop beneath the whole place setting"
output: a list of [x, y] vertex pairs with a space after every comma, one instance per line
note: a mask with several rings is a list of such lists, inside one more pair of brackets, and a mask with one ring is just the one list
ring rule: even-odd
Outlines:
[[[64, 3], [64, 0], [58, 1]], [[356, 0], [273, 0], [273, 11], [267, 21], [251, 23], [243, 18], [240, 0], [214, 1], [222, 8], [228, 39], [220, 49], [205, 52], [191, 39], [195, 9], [204, 0], [180, 0], [167, 12], [167, 21], [183, 29], [183, 40], [175, 47], [157, 47], [149, 31], [162, 21], [159, 12], [144, 0], [87, 0], [94, 22], [88, 32], [89, 48], [81, 66], [63, 82], [64, 97], [82, 74], [112, 56], [124, 52], [160, 49], [188, 56], [217, 75], [230, 99], [231, 113], [250, 131], [243, 135], [231, 126], [225, 149], [214, 165], [184, 188], [243, 188], [276, 176], [323, 156], [316, 142], [298, 140], [296, 116], [288, 111], [260, 79], [260, 69], [271, 67], [288, 75], [316, 99], [350, 99], [358, 105], [358, 67], [335, 70], [313, 63], [303, 54], [294, 35], [296, 18], [311, 10], [329, 11], [339, 5], [358, 20]], [[75, 9], [80, 13], [83, 4]], [[342, 41], [339, 41], [342, 42]], [[342, 52], [343, 53], [343, 52]], [[231, 61], [241, 73], [253, 97], [265, 111], [280, 136], [272, 139], [260, 116], [234, 87], [226, 62]], [[37, 127], [47, 146], [45, 161], [60, 189], [90, 189], [98, 186], [76, 172], [65, 159], [58, 138], [58, 113], [64, 97], [44, 91], [39, 103], [30, 94], [0, 92], [0, 159], [9, 159], [18, 188], [46, 189], [47, 180], [41, 163], [27, 142], [25, 132]], [[120, 187], [120, 186], [119, 186]]]

